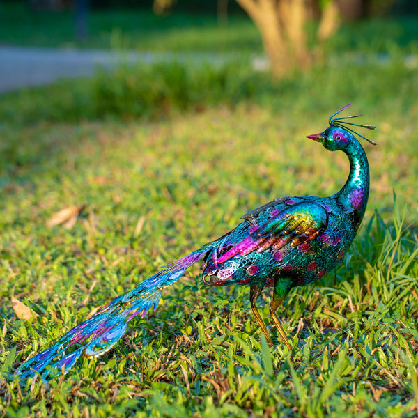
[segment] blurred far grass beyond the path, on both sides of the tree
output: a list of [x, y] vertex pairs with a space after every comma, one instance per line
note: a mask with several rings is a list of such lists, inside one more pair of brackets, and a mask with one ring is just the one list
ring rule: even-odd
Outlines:
[[[386, 53], [394, 47], [417, 52], [415, 16], [373, 18], [344, 24], [327, 42], [327, 52]], [[315, 25], [309, 29], [314, 39]], [[137, 49], [153, 52], [224, 52], [262, 54], [261, 37], [247, 15], [231, 14], [228, 25], [219, 25], [215, 14], [176, 12], [157, 16], [150, 10], [95, 10], [89, 18], [89, 36], [75, 37], [70, 10], [38, 12], [26, 3], [0, 4], [0, 44], [33, 47], [88, 47]]]

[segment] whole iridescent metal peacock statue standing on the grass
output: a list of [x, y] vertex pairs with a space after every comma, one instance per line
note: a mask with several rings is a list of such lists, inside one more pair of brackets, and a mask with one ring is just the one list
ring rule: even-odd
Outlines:
[[348, 156], [350, 174], [338, 193], [330, 197], [281, 197], [251, 210], [235, 229], [116, 297], [54, 346], [26, 360], [17, 373], [22, 377], [41, 373], [45, 378], [51, 371], [66, 373], [80, 355], [91, 358], [106, 353], [121, 339], [127, 323], [137, 315], [144, 317], [151, 307], [156, 309], [162, 289], [174, 284], [199, 260], [203, 261], [201, 269], [206, 285], [249, 286], [251, 309], [270, 343], [256, 300], [263, 288], [272, 286], [270, 315], [281, 339], [291, 348], [277, 318], [277, 308], [291, 288], [323, 277], [341, 261], [355, 238], [369, 197], [369, 164], [355, 135], [366, 138], [353, 127], [374, 129], [374, 126], [347, 121], [361, 115], [335, 117], [343, 109], [330, 117], [330, 127], [324, 132], [308, 136], [327, 150], [341, 150]]

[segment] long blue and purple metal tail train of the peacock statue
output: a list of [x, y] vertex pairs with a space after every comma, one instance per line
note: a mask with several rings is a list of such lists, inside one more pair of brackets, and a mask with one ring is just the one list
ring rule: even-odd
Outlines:
[[[132, 291], [116, 297], [91, 318], [68, 331], [54, 346], [27, 359], [17, 369], [17, 374], [27, 378], [41, 373], [42, 379], [45, 379], [49, 373], [65, 374], [82, 354], [92, 358], [106, 353], [125, 334], [127, 323], [138, 314], [143, 318], [151, 307], [155, 310], [160, 302], [162, 289], [180, 279], [185, 270], [203, 258], [212, 246], [213, 243], [204, 245], [165, 266], [164, 270], [142, 281]], [[82, 347], [68, 353], [76, 344], [81, 344]]]

